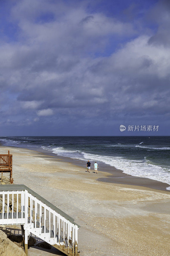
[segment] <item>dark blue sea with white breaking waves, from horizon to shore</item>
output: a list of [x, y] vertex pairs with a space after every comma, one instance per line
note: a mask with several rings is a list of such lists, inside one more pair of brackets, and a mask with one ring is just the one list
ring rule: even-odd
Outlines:
[[123, 172], [170, 184], [170, 136], [0, 137], [4, 146], [30, 148], [81, 160], [100, 161]]

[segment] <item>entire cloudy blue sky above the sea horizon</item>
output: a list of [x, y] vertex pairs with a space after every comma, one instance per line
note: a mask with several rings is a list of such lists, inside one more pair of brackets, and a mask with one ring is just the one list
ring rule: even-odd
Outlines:
[[166, 0], [0, 0], [0, 136], [170, 135], [169, 24]]

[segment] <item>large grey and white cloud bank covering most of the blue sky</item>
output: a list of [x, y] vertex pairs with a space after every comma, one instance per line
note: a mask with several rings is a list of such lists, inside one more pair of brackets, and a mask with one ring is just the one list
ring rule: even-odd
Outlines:
[[[127, 117], [168, 115], [169, 36], [161, 36], [169, 31], [163, 29], [167, 13], [166, 1], [159, 2], [150, 15], [152, 22], [158, 16], [158, 30], [137, 35], [135, 20], [90, 13], [85, 2], [16, 1], [10, 20], [19, 28], [18, 40], [0, 46], [3, 126], [11, 118], [16, 126], [86, 129], [85, 120], [111, 126]], [[119, 49], [103, 56], [111, 38], [124, 37]]]

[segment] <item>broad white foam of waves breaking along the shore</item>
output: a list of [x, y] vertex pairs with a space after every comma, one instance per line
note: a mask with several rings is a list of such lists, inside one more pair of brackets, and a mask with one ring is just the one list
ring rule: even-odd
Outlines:
[[[50, 150], [47, 147], [42, 147]], [[63, 147], [52, 148], [52, 152], [59, 156], [66, 156], [80, 160], [100, 161], [117, 169], [122, 170], [124, 173], [137, 177], [145, 177], [152, 180], [158, 180], [170, 184], [170, 173], [168, 169], [155, 165], [148, 161], [146, 157], [143, 160], [125, 159], [121, 156], [101, 156], [86, 153], [80, 150], [66, 150]]]

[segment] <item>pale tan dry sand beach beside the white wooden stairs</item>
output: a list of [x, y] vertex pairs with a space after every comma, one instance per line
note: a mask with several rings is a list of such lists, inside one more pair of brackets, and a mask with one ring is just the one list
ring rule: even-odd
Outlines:
[[14, 183], [25, 184], [81, 226], [81, 256], [169, 255], [170, 193], [166, 183], [139, 182], [137, 178], [131, 184], [113, 183], [114, 179], [108, 179], [109, 170], [95, 174], [92, 168], [87, 173], [64, 157], [0, 146], [1, 154], [7, 150], [13, 155]]

